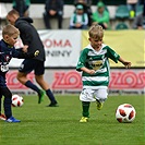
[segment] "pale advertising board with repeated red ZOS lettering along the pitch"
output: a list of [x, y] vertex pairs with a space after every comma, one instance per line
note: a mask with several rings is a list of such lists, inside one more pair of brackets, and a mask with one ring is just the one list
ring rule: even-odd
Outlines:
[[[16, 80], [15, 70], [10, 70], [7, 74], [7, 84], [12, 92], [21, 92], [23, 94], [34, 94]], [[31, 73], [28, 78], [36, 83], [34, 74]], [[45, 80], [51, 86], [55, 93], [76, 94], [82, 89], [81, 73], [75, 70], [46, 70]], [[111, 77], [109, 84], [110, 93], [137, 93], [145, 92], [145, 71], [144, 69], [111, 69]]]

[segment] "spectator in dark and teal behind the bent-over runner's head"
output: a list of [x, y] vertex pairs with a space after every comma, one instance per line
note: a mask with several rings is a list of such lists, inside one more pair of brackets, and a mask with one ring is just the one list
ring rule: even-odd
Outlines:
[[20, 13], [20, 16], [28, 16], [31, 0], [13, 0], [13, 9]]

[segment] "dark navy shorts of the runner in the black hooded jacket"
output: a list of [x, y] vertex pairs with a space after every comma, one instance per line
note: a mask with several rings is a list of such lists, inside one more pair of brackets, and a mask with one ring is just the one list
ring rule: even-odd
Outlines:
[[26, 74], [34, 71], [36, 75], [43, 75], [45, 73], [45, 61], [25, 59], [22, 62], [19, 71]]

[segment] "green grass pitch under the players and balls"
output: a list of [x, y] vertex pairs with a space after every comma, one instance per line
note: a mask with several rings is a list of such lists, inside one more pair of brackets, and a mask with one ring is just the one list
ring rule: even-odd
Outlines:
[[[23, 96], [24, 106], [12, 108], [21, 123], [0, 120], [1, 145], [145, 145], [144, 100], [142, 96], [109, 96], [102, 110], [90, 104], [90, 118], [82, 117], [78, 95], [57, 95], [59, 107], [49, 108], [47, 97], [38, 105], [37, 96]], [[129, 102], [136, 110], [132, 123], [114, 118], [119, 105]]]

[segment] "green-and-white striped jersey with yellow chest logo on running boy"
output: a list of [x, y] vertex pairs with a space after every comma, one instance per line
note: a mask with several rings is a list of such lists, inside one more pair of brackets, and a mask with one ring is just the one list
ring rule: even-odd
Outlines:
[[97, 89], [98, 87], [108, 86], [110, 76], [109, 58], [118, 63], [120, 56], [104, 44], [99, 51], [96, 51], [90, 45], [82, 50], [76, 71], [81, 71], [81, 68], [84, 67], [96, 71], [95, 74], [82, 73], [83, 88]]

